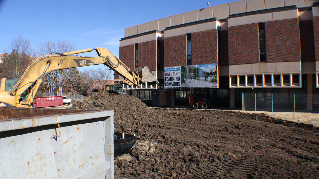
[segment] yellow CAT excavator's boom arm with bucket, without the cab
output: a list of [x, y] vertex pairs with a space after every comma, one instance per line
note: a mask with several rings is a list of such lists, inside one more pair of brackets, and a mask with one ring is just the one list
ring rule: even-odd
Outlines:
[[[77, 55], [80, 53], [91, 52], [95, 50], [97, 52], [96, 57], [87, 57], [82, 55]], [[122, 76], [123, 84], [140, 86], [143, 82], [150, 82], [152, 84], [159, 84], [155, 76], [152, 74], [152, 71], [148, 67], [143, 67], [143, 71], [146, 71], [142, 74], [142, 70], [131, 71], [122, 61], [120, 61], [115, 55], [113, 55], [106, 48], [88, 48], [84, 50], [78, 50], [73, 52], [59, 53], [59, 54], [50, 54], [46, 56], [41, 56], [35, 61], [30, 63], [26, 68], [26, 71], [22, 74], [18, 83], [12, 89], [12, 92], [15, 92], [15, 95], [20, 96], [28, 88], [33, 88], [36, 86], [36, 83], [39, 83], [39, 80], [42, 81], [43, 76], [51, 71], [75, 68], [81, 66], [97, 65], [104, 63], [111, 70], [115, 71], [117, 74]], [[143, 78], [143, 75], [145, 78]], [[40, 83], [41, 83], [40, 81]], [[30, 90], [30, 93], [35, 95], [37, 88]], [[33, 99], [28, 98], [29, 101], [26, 101], [26, 105], [31, 105]], [[17, 100], [18, 102], [18, 100]]]

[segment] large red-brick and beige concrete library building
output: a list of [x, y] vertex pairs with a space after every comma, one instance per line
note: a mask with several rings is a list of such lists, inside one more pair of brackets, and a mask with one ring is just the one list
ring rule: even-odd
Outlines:
[[[319, 94], [319, 3], [242, 0], [128, 27], [120, 59], [130, 69], [149, 66], [160, 82], [125, 86], [131, 95], [151, 101], [152, 90], [168, 89], [172, 106], [188, 105], [195, 92], [230, 108], [241, 107], [243, 92]], [[215, 86], [206, 83], [212, 70], [188, 70], [181, 77], [188, 85], [166, 85], [169, 67], [205, 64], [216, 64]], [[205, 85], [192, 86], [193, 79]]]

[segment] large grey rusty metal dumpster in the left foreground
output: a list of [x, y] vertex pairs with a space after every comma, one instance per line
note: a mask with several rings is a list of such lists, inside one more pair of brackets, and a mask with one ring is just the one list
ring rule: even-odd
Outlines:
[[0, 107], [0, 178], [114, 178], [113, 116]]

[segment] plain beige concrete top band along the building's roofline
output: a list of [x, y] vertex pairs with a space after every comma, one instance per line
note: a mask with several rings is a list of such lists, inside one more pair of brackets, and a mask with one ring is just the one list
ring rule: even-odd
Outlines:
[[[258, 11], [264, 9], [271, 9], [277, 7], [285, 7], [290, 5], [296, 5], [297, 8], [310, 7], [312, 3], [318, 2], [317, 0], [242, 0], [227, 4], [221, 4], [217, 6], [207, 7], [195, 11], [189, 11], [174, 16], [169, 16], [162, 19], [153, 20], [137, 26], [125, 28], [124, 37], [149, 32], [152, 30], [163, 31], [166, 27], [181, 25], [189, 22], [196, 22], [204, 19], [226, 19], [231, 14], [238, 14], [243, 12]], [[313, 16], [319, 16], [319, 7], [313, 7]], [[264, 14], [265, 15], [265, 14]], [[298, 12], [277, 12], [271, 14], [272, 20], [296, 18]], [[265, 15], [269, 19], [269, 15]], [[308, 16], [307, 16], [308, 17]], [[249, 23], [258, 21], [260, 17], [251, 17]], [[250, 22], [251, 21], [251, 22]], [[243, 19], [243, 22], [247, 23], [247, 19]], [[232, 25], [231, 25], [232, 26]]]

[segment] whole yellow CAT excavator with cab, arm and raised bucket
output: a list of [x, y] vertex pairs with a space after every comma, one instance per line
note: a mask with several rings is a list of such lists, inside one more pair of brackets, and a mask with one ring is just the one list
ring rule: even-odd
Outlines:
[[[95, 50], [98, 56], [87, 57], [82, 56], [81, 54], [91, 52], [92, 50]], [[123, 78], [118, 80], [121, 84], [132, 86], [141, 86], [142, 83], [150, 85], [159, 84], [148, 67], [136, 68], [131, 71], [106, 48], [88, 48], [66, 53], [51, 53], [49, 55], [41, 56], [30, 63], [18, 82], [13, 82], [9, 79], [6, 81], [5, 78], [1, 79], [0, 107], [32, 108], [33, 97], [38, 91], [38, 88], [42, 83], [42, 78], [46, 73], [102, 63]], [[13, 84], [15, 85], [13, 86]]]

